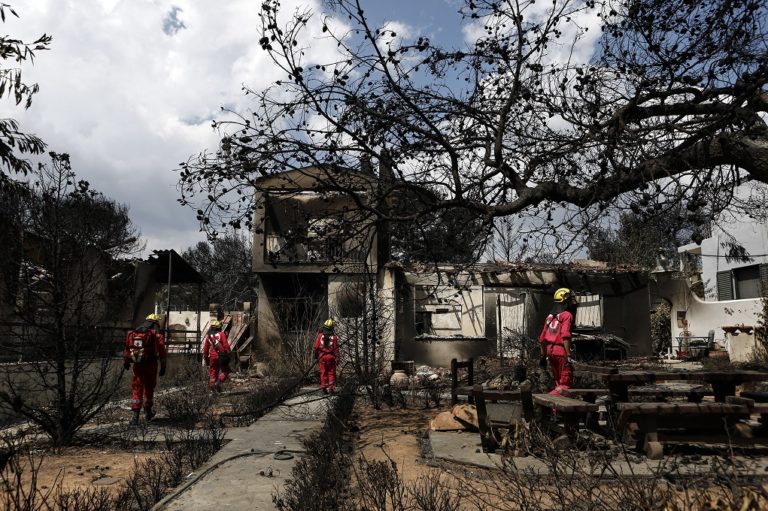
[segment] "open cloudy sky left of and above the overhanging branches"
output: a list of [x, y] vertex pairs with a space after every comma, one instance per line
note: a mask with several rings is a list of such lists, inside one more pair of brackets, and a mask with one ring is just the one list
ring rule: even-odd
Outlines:
[[[460, 0], [363, 0], [375, 22], [461, 47], [471, 37]], [[0, 115], [69, 153], [80, 179], [127, 204], [147, 248], [179, 251], [204, 239], [195, 212], [178, 204], [180, 162], [209, 149], [221, 107], [246, 111], [242, 85], [283, 78], [259, 46], [255, 0], [34, 0], [13, 2], [4, 34], [53, 36], [50, 51], [22, 66], [40, 92], [23, 110], [3, 100]], [[320, 11], [320, 0], [283, 0]], [[318, 24], [319, 30], [319, 24]], [[333, 54], [317, 33], [315, 58]], [[310, 34], [311, 37], [311, 34]], [[335, 45], [334, 45], [335, 46]]]

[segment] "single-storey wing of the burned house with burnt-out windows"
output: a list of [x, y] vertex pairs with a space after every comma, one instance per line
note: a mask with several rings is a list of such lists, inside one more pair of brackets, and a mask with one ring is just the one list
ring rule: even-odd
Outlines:
[[648, 277], [638, 269], [582, 261], [479, 264], [471, 271], [393, 263], [388, 270], [399, 360], [447, 366], [452, 358], [516, 355], [531, 342], [535, 350], [559, 287], [571, 288], [580, 302], [574, 330], [585, 335], [575, 336], [577, 351], [594, 351], [590, 343], [616, 337], [628, 343], [628, 355], [651, 351]]

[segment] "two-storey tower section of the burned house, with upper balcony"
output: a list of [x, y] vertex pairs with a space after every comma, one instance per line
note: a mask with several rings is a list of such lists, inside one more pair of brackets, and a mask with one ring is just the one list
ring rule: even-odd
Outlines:
[[[256, 183], [253, 271], [258, 276], [256, 353], [266, 357], [310, 342], [327, 316], [349, 329], [366, 310], [385, 308], [384, 229], [366, 205], [377, 178], [365, 170], [307, 167]], [[386, 256], [383, 257], [386, 261]], [[391, 306], [387, 305], [387, 309]], [[386, 322], [375, 335], [391, 344]]]

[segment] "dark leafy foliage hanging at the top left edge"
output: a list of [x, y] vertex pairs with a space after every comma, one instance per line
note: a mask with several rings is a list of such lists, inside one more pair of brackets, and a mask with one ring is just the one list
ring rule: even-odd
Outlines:
[[[18, 17], [16, 11], [7, 4], [0, 3], [0, 19]], [[47, 50], [51, 36], [43, 34], [35, 41], [24, 42], [12, 36], [0, 37], [0, 99], [8, 98], [16, 106], [29, 108], [32, 96], [39, 90], [36, 83], [28, 84], [22, 80], [21, 64], [33, 62], [35, 52]], [[8, 186], [10, 174], [26, 174], [32, 170], [24, 154], [40, 154], [45, 150], [45, 143], [35, 135], [20, 131], [19, 123], [14, 119], [0, 119], [0, 186]]]

